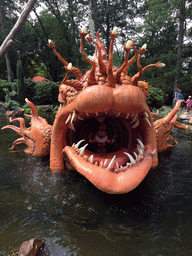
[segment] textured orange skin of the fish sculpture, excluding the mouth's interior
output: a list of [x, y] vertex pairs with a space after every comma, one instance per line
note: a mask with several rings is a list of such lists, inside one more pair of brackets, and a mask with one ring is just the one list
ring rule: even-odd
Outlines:
[[[56, 118], [52, 127], [51, 145], [50, 145], [50, 168], [52, 172], [63, 172], [66, 169], [66, 164], [69, 167], [77, 170], [80, 174], [85, 176], [98, 189], [110, 194], [123, 194], [136, 188], [153, 166], [158, 165], [157, 153], [166, 150], [173, 145], [170, 142], [176, 143], [174, 138], [170, 135], [173, 127], [179, 129], [187, 129], [187, 127], [177, 123], [177, 111], [181, 102], [178, 102], [175, 108], [164, 118], [153, 123], [146, 99], [149, 96], [149, 85], [146, 82], [139, 81], [143, 72], [149, 67], [160, 68], [160, 63], [151, 64], [142, 68], [140, 64], [141, 55], [145, 53], [146, 49], [139, 48], [139, 56], [134, 41], [132, 41], [131, 48], [135, 51], [135, 56], [128, 61], [129, 50], [124, 45], [125, 61], [123, 65], [116, 69], [112, 66], [113, 62], [113, 43], [118, 34], [111, 32], [111, 44], [109, 48], [109, 60], [104, 45], [101, 44], [99, 34], [97, 32], [96, 58], [95, 62], [90, 60], [83, 49], [83, 39], [87, 32], [81, 32], [80, 49], [84, 58], [92, 65], [90, 71], [87, 71], [83, 76], [79, 69], [72, 67], [69, 69], [68, 62], [66, 62], [60, 54], [55, 50], [55, 43], [50, 43], [48, 46], [54, 50], [56, 56], [65, 65], [67, 74], [62, 81], [59, 88], [58, 100], [65, 107], [60, 106], [56, 114]], [[88, 37], [91, 42], [91, 36]], [[139, 72], [133, 77], [127, 75], [130, 64], [137, 58], [137, 65]], [[69, 73], [73, 72], [77, 79], [69, 80]], [[33, 153], [37, 156], [45, 156], [45, 138], [42, 131], [42, 126], [49, 128], [45, 119], [38, 117], [35, 106], [28, 100], [26, 102], [32, 109], [31, 128], [26, 128], [23, 119], [14, 119], [20, 121], [21, 129], [6, 126], [4, 128], [12, 128], [21, 136], [26, 134], [33, 137], [35, 141], [36, 150], [32, 152], [30, 145], [31, 140], [27, 143], [28, 153]], [[67, 144], [67, 130], [68, 125], [66, 121], [68, 117], [75, 114], [95, 114], [113, 111], [113, 113], [127, 113], [139, 114], [141, 122], [139, 124], [139, 131], [143, 143], [145, 145], [143, 159], [135, 165], [131, 165], [126, 171], [113, 172], [108, 168], [103, 168], [98, 165], [91, 164], [80, 156], [74, 148]], [[145, 121], [148, 116], [148, 123]], [[13, 120], [13, 121], [14, 121]], [[26, 140], [26, 139], [25, 139]], [[50, 140], [50, 137], [49, 137]], [[130, 143], [132, 142], [130, 138]], [[23, 139], [18, 139], [14, 142], [15, 146], [23, 142]], [[47, 143], [47, 142], [46, 142]], [[49, 151], [49, 144], [46, 144], [47, 151]], [[13, 147], [13, 148], [14, 148]], [[121, 151], [121, 150], [120, 150]], [[120, 151], [114, 154], [120, 154]], [[99, 154], [98, 154], [99, 155]], [[108, 154], [109, 156], [110, 154]], [[107, 157], [108, 157], [107, 156]], [[109, 156], [110, 159], [112, 156]], [[125, 156], [124, 156], [125, 157]], [[109, 160], [110, 161], [110, 160]]]

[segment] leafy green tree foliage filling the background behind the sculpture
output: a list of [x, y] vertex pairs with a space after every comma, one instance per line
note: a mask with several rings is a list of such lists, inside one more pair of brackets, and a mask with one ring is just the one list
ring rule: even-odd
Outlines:
[[[37, 13], [35, 8], [42, 3], [45, 7], [41, 8], [41, 13]], [[177, 73], [179, 18], [180, 7], [183, 3], [185, 3], [183, 19], [187, 26], [186, 29], [184, 28], [185, 41], [181, 56], [180, 87], [186, 98], [192, 94], [192, 29], [188, 26], [192, 19], [191, 0], [38, 1], [33, 9], [36, 18], [28, 18], [28, 22], [25, 22], [15, 39], [14, 46], [9, 51], [13, 75], [16, 77], [16, 63], [19, 54], [27, 78], [40, 75], [56, 82], [63, 79], [66, 74], [65, 67], [54, 55], [52, 49], [47, 46], [48, 39], [55, 41], [56, 50], [67, 62], [71, 62], [73, 66], [79, 67], [82, 73], [85, 73], [89, 67], [79, 51], [79, 30], [83, 26], [87, 26], [87, 30], [89, 30], [88, 21], [92, 18], [95, 31], [99, 30], [101, 41], [107, 46], [107, 49], [110, 43], [110, 30], [114, 26], [118, 28], [119, 35], [114, 44], [115, 66], [122, 64], [124, 60], [123, 44], [131, 39], [134, 39], [137, 49], [147, 43], [148, 51], [145, 53], [145, 58], [141, 59], [142, 67], [158, 61], [166, 64], [163, 69], [148, 69], [141, 80], [145, 80], [151, 87], [163, 91], [164, 104], [170, 105]], [[16, 10], [20, 11], [21, 9], [21, 1], [10, 0], [5, 1], [5, 4], [5, 20], [4, 26], [0, 26], [0, 42], [13, 27], [18, 15]], [[86, 54], [93, 55], [93, 44], [85, 43], [84, 46]], [[133, 51], [130, 52], [130, 58], [132, 54]], [[0, 70], [0, 78], [6, 79], [5, 61], [0, 64]], [[137, 72], [138, 67], [135, 62], [130, 66], [129, 75], [132, 76]], [[31, 83], [30, 86], [30, 83], [27, 82], [29, 84], [27, 95], [30, 100], [38, 100], [35, 94], [35, 84]], [[5, 93], [0, 94], [0, 97], [4, 98]], [[41, 99], [43, 99], [42, 96]]]

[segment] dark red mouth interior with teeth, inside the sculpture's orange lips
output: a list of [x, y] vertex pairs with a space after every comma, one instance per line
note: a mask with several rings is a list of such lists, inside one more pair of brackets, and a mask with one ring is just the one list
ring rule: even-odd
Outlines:
[[69, 120], [66, 144], [85, 161], [112, 172], [126, 171], [143, 159], [145, 140], [141, 122], [151, 125], [147, 112], [141, 114], [100, 112], [80, 114]]

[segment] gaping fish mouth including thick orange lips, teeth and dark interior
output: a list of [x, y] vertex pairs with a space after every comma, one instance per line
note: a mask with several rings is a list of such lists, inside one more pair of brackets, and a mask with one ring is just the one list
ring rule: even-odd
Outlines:
[[139, 88], [91, 86], [58, 112], [50, 167], [61, 170], [66, 162], [100, 190], [126, 193], [157, 164], [155, 149], [153, 121]]

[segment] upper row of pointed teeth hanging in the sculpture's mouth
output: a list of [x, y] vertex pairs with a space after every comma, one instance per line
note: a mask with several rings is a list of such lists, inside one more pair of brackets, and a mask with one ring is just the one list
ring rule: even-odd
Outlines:
[[[106, 114], [107, 114], [107, 112], [106, 112]], [[120, 116], [120, 114], [121, 114], [121, 113], [118, 112], [118, 113], [116, 114], [116, 117]], [[89, 116], [89, 113], [86, 113], [86, 115]], [[95, 115], [98, 116], [98, 113], [95, 113]], [[139, 125], [139, 115], [138, 115], [138, 114], [134, 114], [134, 113], [132, 113], [132, 114], [127, 113], [125, 118], [128, 119], [129, 116], [132, 117], [131, 124], [132, 124], [132, 128], [135, 129], [135, 128]], [[67, 118], [67, 120], [66, 120], [66, 122], [65, 122], [65, 124], [69, 124], [69, 128], [71, 128], [71, 129], [73, 129], [73, 130], [75, 130], [74, 125], [73, 125], [73, 121], [75, 120], [76, 117], [77, 117], [78, 119], [81, 119], [81, 120], [82, 120], [82, 118], [81, 118], [80, 116], [78, 116], [78, 115], [75, 113], [75, 111], [73, 111], [72, 114], [69, 114], [69, 115], [68, 115], [68, 118]], [[151, 123], [150, 123], [150, 121], [149, 121], [149, 114], [148, 114], [147, 112], [144, 112], [144, 119], [145, 119], [145, 121], [148, 123], [148, 125], [151, 127]]]

